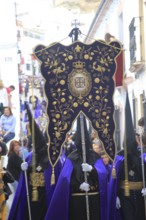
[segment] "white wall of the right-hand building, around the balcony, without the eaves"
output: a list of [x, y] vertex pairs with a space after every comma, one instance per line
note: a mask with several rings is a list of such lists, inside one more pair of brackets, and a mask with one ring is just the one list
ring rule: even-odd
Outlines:
[[[94, 35], [94, 39], [104, 39], [106, 33], [110, 33], [116, 39], [120, 40], [125, 49], [125, 72], [127, 78], [126, 87], [129, 93], [131, 112], [133, 116], [133, 95], [137, 99], [138, 119], [141, 117], [140, 95], [143, 91], [146, 92], [146, 71], [141, 70], [140, 73], [131, 73], [130, 68], [130, 51], [129, 51], [129, 25], [133, 17], [139, 17], [139, 0], [113, 0], [109, 1], [110, 6], [107, 9], [105, 16], [101, 17], [102, 22], [98, 24], [98, 29]], [[143, 0], [144, 2], [144, 0]], [[143, 3], [144, 4], [144, 3]], [[144, 6], [144, 21], [146, 24], [146, 5]], [[98, 22], [98, 20], [97, 20]], [[96, 26], [96, 25], [95, 25]], [[95, 30], [93, 30], [95, 32]], [[145, 25], [146, 33], [146, 25]], [[146, 44], [145, 44], [146, 46]], [[145, 48], [146, 51], [146, 48]], [[137, 77], [135, 77], [135, 75]], [[128, 79], [132, 79], [128, 82]], [[125, 87], [116, 88], [114, 95], [115, 105], [120, 108], [121, 117], [121, 146], [124, 136], [125, 122]]]

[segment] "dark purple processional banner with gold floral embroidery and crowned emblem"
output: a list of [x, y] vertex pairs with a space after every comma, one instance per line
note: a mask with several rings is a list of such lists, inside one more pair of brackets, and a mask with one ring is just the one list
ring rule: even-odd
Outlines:
[[114, 74], [120, 62], [116, 58], [121, 53], [121, 44], [55, 43], [50, 47], [38, 45], [34, 53], [45, 79], [48, 154], [52, 166], [56, 165], [66, 134], [80, 112], [92, 123], [106, 153], [114, 160]]

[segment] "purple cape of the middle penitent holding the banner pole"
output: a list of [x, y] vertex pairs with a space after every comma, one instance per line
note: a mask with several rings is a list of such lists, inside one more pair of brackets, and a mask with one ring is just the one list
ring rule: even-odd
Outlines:
[[[101, 159], [94, 164], [98, 173], [99, 193], [100, 193], [100, 220], [108, 219], [107, 210], [107, 170]], [[70, 179], [73, 171], [71, 160], [66, 159], [64, 167], [60, 173], [50, 206], [46, 213], [45, 220], [68, 220], [69, 219], [69, 198]]]

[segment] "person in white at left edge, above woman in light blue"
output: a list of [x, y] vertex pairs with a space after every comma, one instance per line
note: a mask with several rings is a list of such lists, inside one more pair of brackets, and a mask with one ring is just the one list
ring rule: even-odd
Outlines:
[[0, 115], [3, 114], [3, 108], [8, 106], [8, 94], [7, 90], [4, 87], [3, 81], [0, 80], [0, 106], [1, 106], [1, 112]]

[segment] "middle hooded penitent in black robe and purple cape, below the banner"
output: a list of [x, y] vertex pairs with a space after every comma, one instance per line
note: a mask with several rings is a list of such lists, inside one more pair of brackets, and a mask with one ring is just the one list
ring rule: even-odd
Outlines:
[[[46, 220], [86, 220], [87, 192], [90, 220], [107, 219], [107, 171], [99, 155], [92, 150], [85, 118], [84, 133], [86, 163], [83, 163], [82, 137], [78, 118], [74, 137], [77, 149], [65, 161], [46, 214]], [[87, 182], [84, 179], [85, 172], [87, 172]]]

